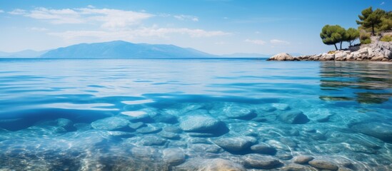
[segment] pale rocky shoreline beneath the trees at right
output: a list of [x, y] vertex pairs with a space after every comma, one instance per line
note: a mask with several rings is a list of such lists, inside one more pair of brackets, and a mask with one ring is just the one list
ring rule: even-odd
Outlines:
[[278, 53], [267, 61], [386, 61], [392, 62], [392, 42], [375, 41], [368, 45], [351, 46], [346, 51], [331, 51], [310, 56], [293, 57]]

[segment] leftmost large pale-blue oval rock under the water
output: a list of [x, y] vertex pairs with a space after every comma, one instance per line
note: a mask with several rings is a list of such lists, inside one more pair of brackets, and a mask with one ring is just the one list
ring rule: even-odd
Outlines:
[[91, 127], [97, 130], [118, 130], [127, 127], [129, 121], [124, 118], [110, 117], [96, 120], [91, 123]]

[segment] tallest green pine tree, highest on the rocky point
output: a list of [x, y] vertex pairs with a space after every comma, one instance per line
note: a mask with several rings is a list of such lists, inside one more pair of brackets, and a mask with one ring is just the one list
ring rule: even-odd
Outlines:
[[381, 26], [381, 18], [386, 14], [382, 9], [376, 9], [373, 11], [372, 7], [368, 9], [364, 9], [361, 12], [361, 15], [358, 15], [360, 21], [356, 21], [356, 24], [360, 24], [363, 28], [368, 29], [371, 28], [371, 33], [373, 35], [376, 34], [376, 28]]

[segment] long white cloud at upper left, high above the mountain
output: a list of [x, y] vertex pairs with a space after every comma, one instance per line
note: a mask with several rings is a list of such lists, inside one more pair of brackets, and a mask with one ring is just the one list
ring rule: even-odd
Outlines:
[[14, 10], [14, 14], [29, 16], [33, 19], [49, 21], [51, 24], [85, 24], [97, 22], [104, 28], [123, 28], [139, 24], [144, 19], [149, 19], [152, 14], [124, 11], [119, 9], [46, 9], [36, 8], [32, 11]]

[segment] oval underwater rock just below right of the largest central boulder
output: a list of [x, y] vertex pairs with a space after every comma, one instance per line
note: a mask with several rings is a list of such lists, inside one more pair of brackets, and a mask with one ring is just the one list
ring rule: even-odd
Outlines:
[[215, 142], [215, 144], [219, 147], [222, 147], [224, 150], [234, 152], [246, 150], [254, 143], [248, 137], [220, 138], [218, 140], [214, 140], [213, 142]]

